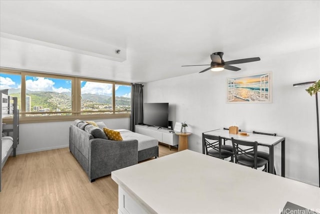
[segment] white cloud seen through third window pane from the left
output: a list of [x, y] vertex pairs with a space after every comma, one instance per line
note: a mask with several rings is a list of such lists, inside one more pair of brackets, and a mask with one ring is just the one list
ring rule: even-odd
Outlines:
[[112, 84], [86, 82], [81, 88], [81, 94], [112, 94]]

